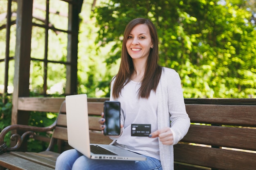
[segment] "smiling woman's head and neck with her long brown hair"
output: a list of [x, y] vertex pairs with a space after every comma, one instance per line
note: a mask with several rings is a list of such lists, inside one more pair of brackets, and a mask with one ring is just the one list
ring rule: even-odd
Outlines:
[[[134, 60], [135, 58], [139, 60]], [[113, 84], [116, 89], [113, 97], [119, 97], [124, 83], [129, 80], [141, 82], [139, 97], [148, 97], [151, 90], [156, 90], [162, 73], [158, 59], [158, 36], [154, 24], [144, 18], [132, 20], [124, 31], [121, 64], [117, 80]]]

